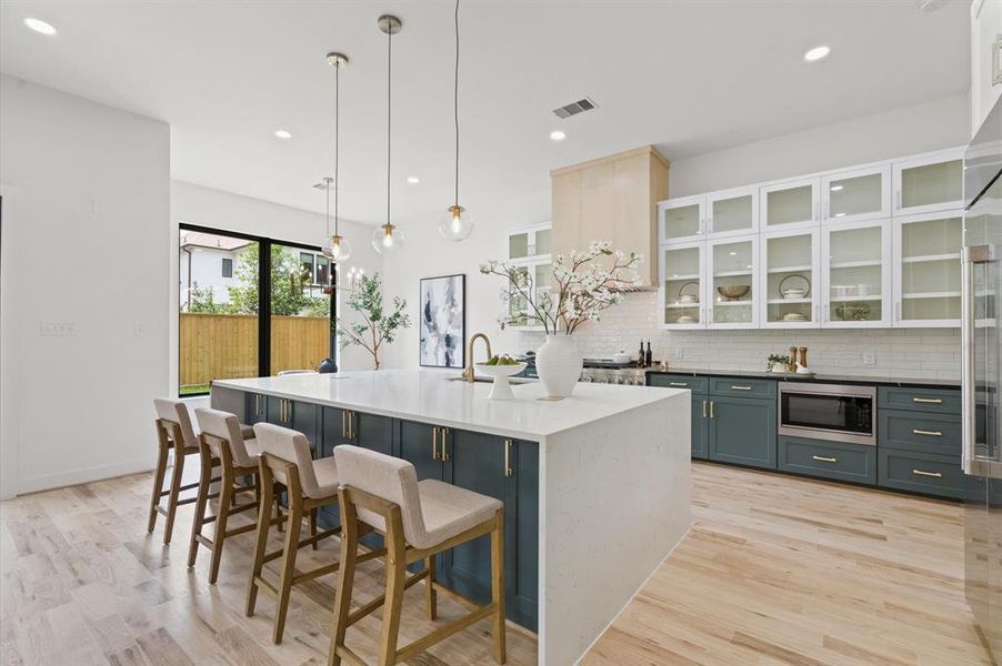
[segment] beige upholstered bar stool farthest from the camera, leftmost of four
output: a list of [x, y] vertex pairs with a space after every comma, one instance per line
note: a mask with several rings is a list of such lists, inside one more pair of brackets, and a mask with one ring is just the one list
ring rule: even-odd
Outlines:
[[[157, 526], [157, 514], [163, 514], [167, 517], [167, 525], [163, 528], [163, 543], [170, 544], [171, 534], [174, 531], [174, 516], [178, 507], [182, 504], [191, 504], [198, 497], [189, 497], [180, 500], [182, 491], [190, 491], [199, 485], [199, 482], [181, 485], [181, 478], [184, 474], [184, 458], [189, 455], [199, 453], [198, 440], [194, 428], [191, 426], [191, 416], [188, 414], [188, 405], [180, 400], [169, 400], [163, 397], [153, 398], [153, 408], [157, 411], [157, 440], [158, 456], [157, 467], [153, 471], [153, 493], [150, 497], [150, 517], [147, 523], [147, 532], [152, 533]], [[253, 435], [250, 426], [242, 425], [241, 432], [244, 437], [248, 434]], [[174, 450], [174, 465], [171, 471], [170, 488], [163, 488], [163, 478], [167, 476], [167, 458], [170, 450]], [[219, 481], [219, 477], [210, 478], [210, 482]], [[167, 496], [167, 507], [160, 505], [160, 498]], [[214, 497], [216, 495], [210, 495]]]

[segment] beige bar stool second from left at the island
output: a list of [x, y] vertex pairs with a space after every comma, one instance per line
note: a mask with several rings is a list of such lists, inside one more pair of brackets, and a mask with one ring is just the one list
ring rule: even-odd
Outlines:
[[[188, 548], [188, 566], [194, 566], [198, 557], [199, 544], [212, 551], [212, 564], [210, 567], [209, 583], [216, 584], [219, 577], [219, 563], [222, 557], [222, 546], [226, 539], [238, 534], [253, 532], [257, 523], [227, 529], [231, 515], [257, 508], [261, 502], [261, 484], [258, 466], [258, 444], [255, 440], [244, 440], [243, 431], [237, 416], [219, 410], [197, 408], [194, 411], [199, 430], [199, 454], [201, 456], [202, 474], [199, 481], [199, 494], [194, 508], [194, 524], [191, 527], [191, 544]], [[253, 435], [253, 430], [251, 430]], [[212, 468], [222, 467], [222, 487], [219, 492], [219, 511], [214, 516], [206, 517], [206, 507], [209, 502], [209, 484], [212, 481]], [[251, 476], [252, 485], [240, 485], [238, 480]], [[254, 501], [246, 504], [237, 504], [237, 494], [253, 491]], [[270, 506], [270, 505], [269, 505]], [[281, 524], [284, 521], [279, 505], [279, 496], [274, 495], [274, 518], [269, 516], [271, 524]], [[202, 527], [216, 522], [216, 533], [212, 538], [202, 534]]]

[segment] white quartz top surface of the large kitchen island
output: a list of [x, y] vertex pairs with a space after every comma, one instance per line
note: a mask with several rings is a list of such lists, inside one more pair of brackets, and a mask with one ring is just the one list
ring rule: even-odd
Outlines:
[[689, 400], [688, 390], [579, 383], [570, 397], [544, 401], [542, 385], [531, 382], [512, 385], [513, 401], [492, 401], [489, 383], [449, 381], [459, 374], [380, 370], [217, 380], [212, 386], [533, 441], [659, 401]]

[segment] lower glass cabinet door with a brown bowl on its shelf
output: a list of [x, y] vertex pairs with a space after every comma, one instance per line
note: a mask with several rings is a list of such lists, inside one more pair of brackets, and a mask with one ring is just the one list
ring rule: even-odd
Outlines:
[[758, 236], [709, 243], [710, 327], [747, 329], [754, 325], [756, 242]]

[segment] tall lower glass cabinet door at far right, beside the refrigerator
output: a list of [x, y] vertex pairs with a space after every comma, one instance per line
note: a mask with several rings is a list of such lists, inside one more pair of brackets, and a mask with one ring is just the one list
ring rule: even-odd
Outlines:
[[925, 214], [894, 220], [894, 323], [960, 325], [963, 218]]

